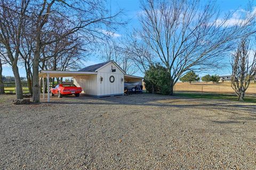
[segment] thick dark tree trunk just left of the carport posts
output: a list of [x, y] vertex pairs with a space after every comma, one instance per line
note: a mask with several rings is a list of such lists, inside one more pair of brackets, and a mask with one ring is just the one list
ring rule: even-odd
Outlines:
[[[38, 44], [38, 43], [37, 43]], [[36, 47], [35, 56], [33, 60], [33, 102], [39, 103], [40, 102], [40, 84], [39, 84], [39, 56], [40, 56], [40, 47], [39, 44]]]

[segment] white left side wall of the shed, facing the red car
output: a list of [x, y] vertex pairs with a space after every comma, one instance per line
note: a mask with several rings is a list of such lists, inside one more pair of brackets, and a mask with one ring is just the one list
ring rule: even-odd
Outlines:
[[84, 94], [97, 95], [97, 75], [76, 76], [74, 84], [82, 87]]

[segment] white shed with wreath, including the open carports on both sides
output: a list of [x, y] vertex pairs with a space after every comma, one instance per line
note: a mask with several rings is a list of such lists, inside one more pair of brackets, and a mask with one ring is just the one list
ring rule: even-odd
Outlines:
[[[142, 77], [126, 75], [114, 61], [94, 64], [79, 71], [42, 70], [39, 77], [47, 77], [47, 88], [50, 77], [73, 77], [74, 84], [82, 87], [83, 94], [98, 98], [124, 95], [124, 82], [139, 82], [142, 85]], [[50, 94], [48, 96], [50, 101]]]

